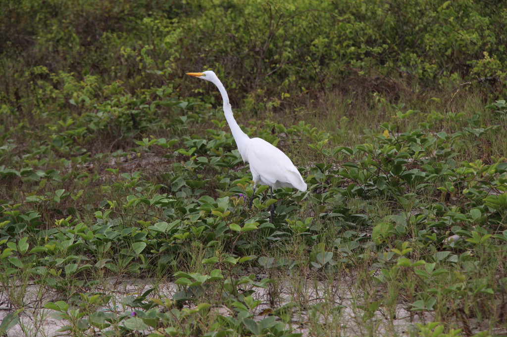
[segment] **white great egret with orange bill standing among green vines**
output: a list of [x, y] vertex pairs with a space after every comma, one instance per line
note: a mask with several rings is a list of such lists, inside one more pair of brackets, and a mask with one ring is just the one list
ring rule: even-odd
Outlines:
[[[285, 153], [266, 142], [264, 139], [249, 138], [241, 131], [232, 114], [229, 96], [227, 96], [224, 85], [213, 71], [188, 72], [187, 75], [210, 81], [222, 94], [225, 118], [229, 123], [229, 128], [231, 128], [232, 136], [238, 146], [239, 154], [245, 163], [248, 162], [250, 164], [254, 193], [257, 183], [267, 185], [271, 188], [271, 198], [273, 198], [273, 188], [292, 187], [302, 192], [306, 191], [307, 186], [303, 177], [301, 177], [298, 169]], [[274, 206], [271, 205], [271, 222], [273, 222], [274, 211]]]

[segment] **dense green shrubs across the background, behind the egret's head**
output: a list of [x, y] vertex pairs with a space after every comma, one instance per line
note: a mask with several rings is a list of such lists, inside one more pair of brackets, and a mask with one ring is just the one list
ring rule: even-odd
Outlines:
[[396, 95], [465, 80], [491, 93], [506, 80], [502, 3], [7, 1], [0, 92], [22, 100], [42, 66], [101, 85], [120, 79], [132, 93], [167, 80], [188, 89], [184, 71], [210, 68], [256, 103], [283, 92], [312, 97], [353, 85]]

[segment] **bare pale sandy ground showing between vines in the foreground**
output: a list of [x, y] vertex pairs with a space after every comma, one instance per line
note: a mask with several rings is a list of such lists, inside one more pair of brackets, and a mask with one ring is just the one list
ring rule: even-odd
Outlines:
[[[266, 277], [267, 275], [260, 276]], [[149, 279], [123, 279], [120, 282], [115, 279], [106, 283], [108, 284], [102, 285], [103, 288], [93, 289], [112, 295], [110, 303], [99, 309], [102, 311], [116, 311], [117, 313], [130, 312], [128, 307], [122, 305], [122, 300], [125, 297], [137, 297], [144, 291], [154, 287]], [[371, 335], [371, 331], [375, 331], [374, 335], [379, 336], [408, 336], [414, 334], [416, 323], [432, 320], [430, 314], [416, 315], [403, 304], [397, 304], [394, 313], [386, 313], [380, 309], [375, 311], [372, 317], [365, 320], [365, 311], [358, 308], [361, 305], [359, 303], [360, 297], [354, 296], [353, 290], [350, 288], [351, 284], [351, 280], [340, 280], [325, 284], [315, 280], [307, 280], [295, 285], [291, 280], [291, 282], [286, 283], [278, 282], [272, 285], [270, 289], [255, 288], [252, 297], [262, 301], [262, 303], [256, 308], [254, 319], [262, 320], [267, 317], [262, 315], [262, 312], [265, 309], [272, 309], [269, 304], [271, 298], [276, 298], [276, 303], [273, 306], [276, 309], [290, 302], [298, 303], [296, 301], [301, 301], [304, 297], [304, 302], [311, 304], [311, 308], [315, 308], [315, 305], [322, 305], [324, 307], [321, 308], [325, 309], [315, 310], [309, 308], [294, 314], [291, 322], [293, 332], [300, 332], [303, 336], [316, 335], [311, 328], [315, 322], [325, 325], [324, 330], [335, 331], [333, 336]], [[159, 284], [157, 288], [158, 296], [161, 298], [172, 298], [172, 294], [177, 291], [177, 286], [170, 282]], [[25, 309], [20, 314], [20, 322], [8, 331], [7, 336], [69, 335], [66, 332], [57, 332], [59, 328], [68, 324], [68, 322], [55, 319], [53, 317], [55, 311], [43, 309], [44, 304], [47, 302], [62, 300], [62, 294], [41, 290], [40, 286], [36, 285], [29, 285], [26, 288], [23, 294]], [[276, 296], [273, 297], [273, 293], [276, 293]], [[330, 310], [335, 306], [341, 309], [337, 311]], [[9, 313], [14, 312], [15, 309], [9, 300], [8, 294], [2, 292], [0, 294], [0, 320]], [[231, 315], [233, 313], [225, 307], [215, 308], [214, 310], [221, 315]], [[471, 328], [474, 329], [474, 327]], [[96, 335], [100, 335], [98, 331], [96, 332]], [[93, 331], [89, 330], [88, 335], [93, 335]], [[319, 337], [322, 336], [319, 335]]]

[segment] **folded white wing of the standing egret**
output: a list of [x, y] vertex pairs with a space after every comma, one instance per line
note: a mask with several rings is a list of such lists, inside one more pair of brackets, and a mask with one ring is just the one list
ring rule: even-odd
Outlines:
[[252, 138], [246, 150], [250, 171], [272, 187], [295, 187], [306, 191], [298, 169], [289, 157], [261, 138]]

